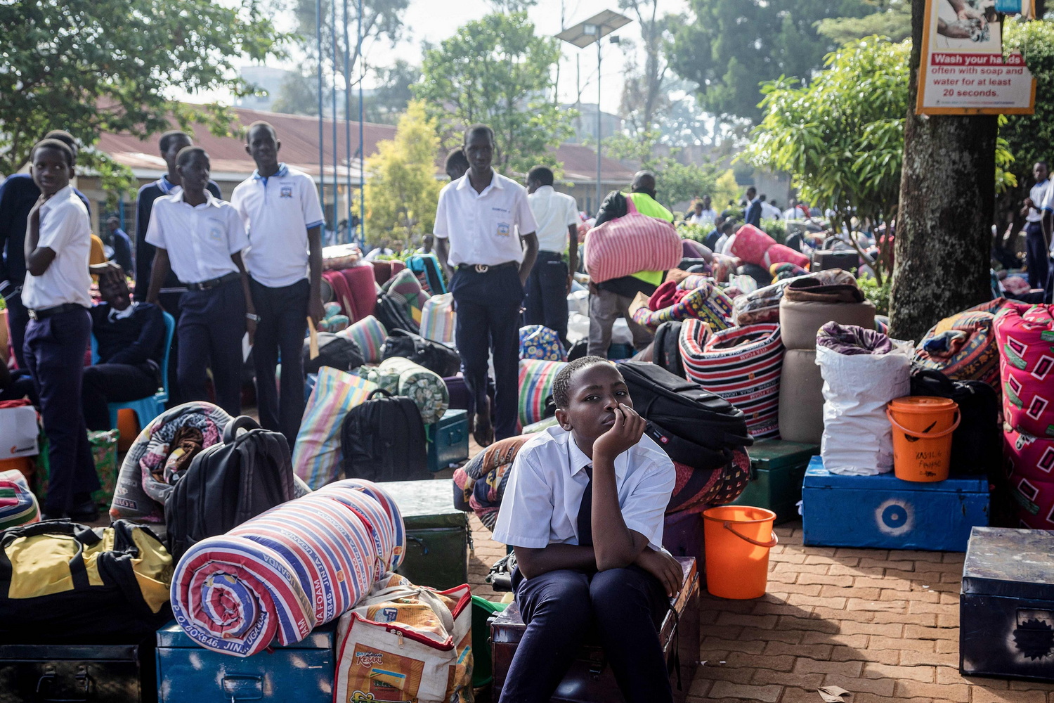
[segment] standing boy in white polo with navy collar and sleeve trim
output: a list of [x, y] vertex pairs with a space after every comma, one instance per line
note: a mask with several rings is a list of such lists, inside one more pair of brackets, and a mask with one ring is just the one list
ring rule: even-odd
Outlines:
[[[246, 152], [256, 172], [234, 189], [231, 204], [249, 231], [246, 268], [259, 314], [253, 363], [260, 425], [281, 432], [290, 447], [304, 415], [304, 335], [307, 317], [325, 316], [319, 286], [321, 226], [326, 218], [311, 176], [278, 162], [278, 141], [268, 122], [253, 122]], [[281, 356], [281, 392], [274, 371]]]

